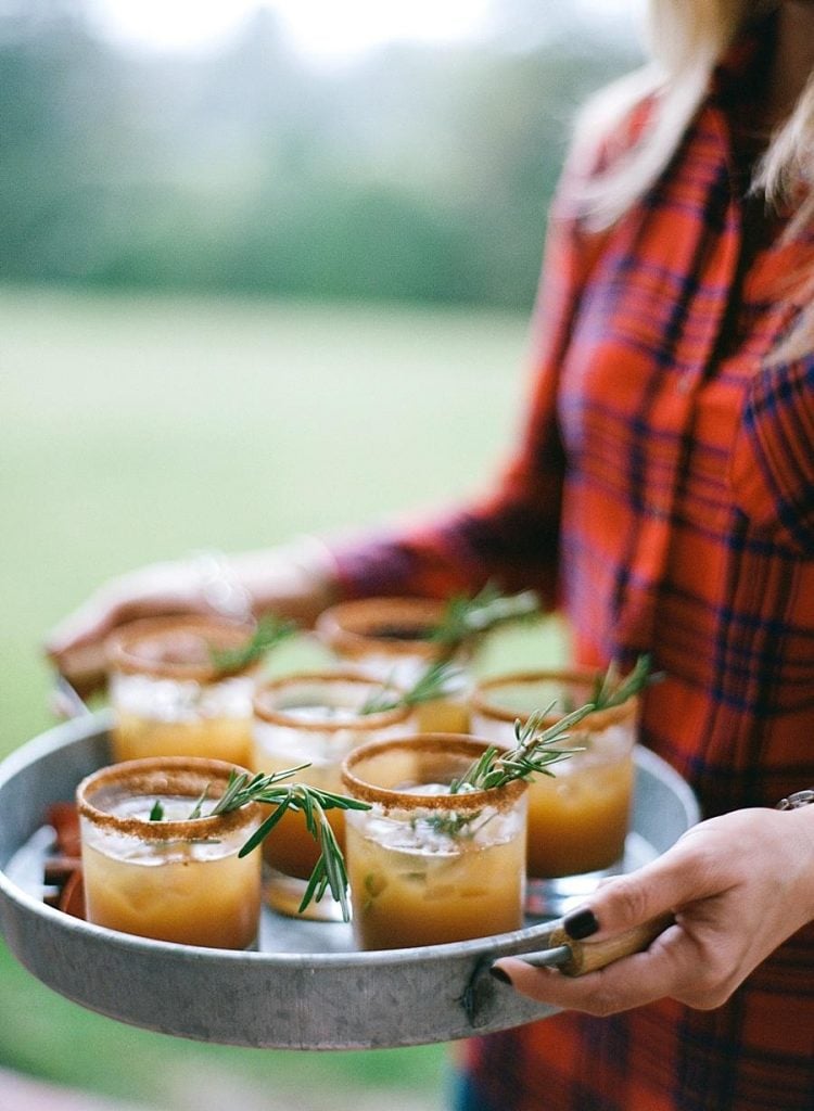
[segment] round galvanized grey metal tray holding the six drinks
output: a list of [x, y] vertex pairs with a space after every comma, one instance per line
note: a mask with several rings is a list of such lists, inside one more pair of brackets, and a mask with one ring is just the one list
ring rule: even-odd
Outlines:
[[[0, 931], [49, 988], [121, 1022], [275, 1049], [377, 1049], [454, 1041], [554, 1010], [497, 983], [498, 955], [545, 947], [549, 923], [455, 944], [360, 952], [350, 927], [264, 911], [258, 949], [152, 941], [71, 918], [42, 902], [52, 841], [43, 815], [109, 762], [108, 713], [67, 722], [0, 764]], [[693, 792], [663, 760], [636, 751], [625, 870], [668, 849], [698, 819]]]

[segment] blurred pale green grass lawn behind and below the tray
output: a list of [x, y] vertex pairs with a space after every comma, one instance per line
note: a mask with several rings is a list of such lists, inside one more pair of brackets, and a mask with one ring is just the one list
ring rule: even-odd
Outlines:
[[[525, 387], [526, 321], [493, 311], [6, 289], [0, 336], [0, 755], [52, 724], [39, 645], [101, 581], [454, 502], [508, 452]], [[509, 634], [486, 665], [557, 637]], [[172, 1111], [441, 1105], [445, 1047], [198, 1045], [85, 1011], [6, 950], [0, 1001], [0, 1067]]]

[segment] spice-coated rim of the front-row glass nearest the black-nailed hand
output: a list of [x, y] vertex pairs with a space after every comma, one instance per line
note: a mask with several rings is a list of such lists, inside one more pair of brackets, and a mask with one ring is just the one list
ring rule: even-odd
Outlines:
[[385, 741], [368, 741], [349, 752], [341, 763], [341, 780], [349, 793], [363, 802], [380, 803], [395, 810], [480, 810], [494, 807], [507, 810], [527, 790], [526, 780], [516, 779], [504, 787], [489, 788], [479, 791], [466, 791], [463, 794], [420, 794], [418, 791], [399, 791], [396, 788], [378, 787], [360, 779], [354, 771], [355, 765], [363, 760], [386, 755], [393, 749], [406, 751], [448, 752], [453, 755], [466, 755], [471, 761], [483, 755], [487, 749], [500, 749], [502, 745], [471, 737], [468, 733], [416, 733], [410, 737], [394, 737]]

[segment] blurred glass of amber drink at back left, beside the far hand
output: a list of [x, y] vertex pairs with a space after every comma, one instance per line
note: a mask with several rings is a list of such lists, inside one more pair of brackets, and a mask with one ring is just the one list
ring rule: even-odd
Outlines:
[[192, 755], [245, 765], [257, 663], [222, 667], [247, 624], [218, 618], [133, 621], [106, 644], [115, 760]]

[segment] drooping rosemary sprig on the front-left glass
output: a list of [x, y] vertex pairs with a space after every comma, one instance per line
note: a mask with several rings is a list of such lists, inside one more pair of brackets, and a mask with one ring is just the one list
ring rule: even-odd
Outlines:
[[[367, 802], [347, 798], [344, 794], [335, 794], [331, 791], [321, 791], [307, 783], [284, 783], [282, 780], [290, 779], [297, 772], [309, 768], [310, 764], [299, 764], [297, 768], [287, 768], [284, 771], [264, 774], [257, 772], [232, 771], [219, 799], [214, 801], [211, 809], [204, 812], [204, 804], [207, 800], [208, 789], [205, 789], [195, 803], [189, 819], [215, 818], [218, 814], [226, 814], [231, 810], [239, 810], [250, 802], [262, 802], [276, 809], [258, 827], [248, 841], [238, 852], [238, 857], [246, 857], [257, 848], [271, 830], [277, 825], [287, 810], [299, 811], [305, 815], [305, 823], [308, 832], [319, 845], [319, 859], [314, 865], [310, 879], [306, 887], [305, 894], [299, 904], [301, 913], [314, 900], [319, 902], [326, 891], [330, 891], [332, 898], [339, 903], [343, 918], [346, 922], [350, 920], [350, 907], [348, 903], [348, 875], [345, 869], [345, 858], [337, 842], [336, 834], [331, 829], [326, 810], [369, 810]], [[157, 809], [158, 808], [158, 809]], [[160, 802], [156, 802], [150, 811], [150, 821], [161, 821], [163, 810]]]

